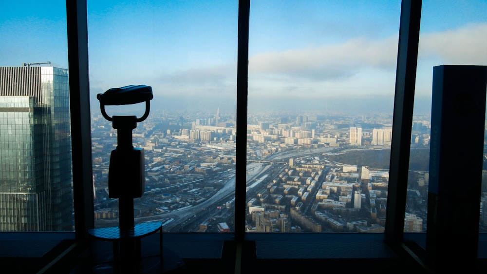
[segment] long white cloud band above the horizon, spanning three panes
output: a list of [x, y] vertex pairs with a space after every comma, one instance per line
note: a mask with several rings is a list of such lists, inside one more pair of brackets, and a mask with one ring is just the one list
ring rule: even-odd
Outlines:
[[[420, 37], [417, 92], [431, 93], [432, 66], [487, 65], [487, 23]], [[249, 58], [249, 98], [393, 96], [397, 36], [350, 39], [340, 44], [264, 52]], [[118, 75], [120, 78], [121, 75]], [[235, 98], [236, 63], [147, 72], [144, 84], [163, 96]], [[94, 84], [95, 81], [92, 81]]]

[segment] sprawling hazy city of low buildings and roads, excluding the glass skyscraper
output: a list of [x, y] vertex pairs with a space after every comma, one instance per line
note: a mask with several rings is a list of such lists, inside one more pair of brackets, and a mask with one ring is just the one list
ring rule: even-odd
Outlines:
[[[108, 168], [116, 130], [93, 112], [95, 226], [113, 226]], [[428, 117], [413, 128], [412, 149], [424, 161]], [[136, 222], [162, 220], [168, 232], [234, 231], [235, 133], [234, 115], [219, 110], [151, 113], [133, 131], [147, 172], [146, 193], [134, 201]], [[383, 232], [391, 136], [388, 116], [249, 116], [245, 231]], [[335, 160], [354, 152], [375, 159]], [[406, 232], [426, 231], [427, 164], [411, 172]]]

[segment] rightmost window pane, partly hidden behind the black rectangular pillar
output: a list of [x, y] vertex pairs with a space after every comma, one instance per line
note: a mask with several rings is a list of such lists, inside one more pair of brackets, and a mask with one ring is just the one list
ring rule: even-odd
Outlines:
[[[443, 64], [487, 64], [485, 51], [487, 47], [487, 39], [485, 38], [487, 16], [483, 12], [486, 8], [487, 3], [482, 1], [423, 1], [405, 232], [426, 232], [427, 229], [433, 67]], [[460, 131], [468, 132], [468, 129], [461, 128], [459, 125]], [[465, 140], [459, 138], [459, 145], [463, 141]], [[487, 170], [485, 162], [484, 157], [484, 169]], [[485, 176], [482, 179], [483, 186], [486, 185], [484, 178]], [[485, 188], [482, 191], [480, 231], [486, 232], [485, 207], [483, 206], [486, 201]]]

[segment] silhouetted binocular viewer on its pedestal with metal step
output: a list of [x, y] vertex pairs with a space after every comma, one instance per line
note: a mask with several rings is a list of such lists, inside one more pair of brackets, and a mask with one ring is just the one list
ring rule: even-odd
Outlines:
[[[171, 251], [163, 252], [162, 221], [134, 224], [133, 199], [145, 191], [144, 149], [132, 145], [132, 130], [137, 122], [149, 115], [152, 89], [149, 86], [126, 86], [98, 94], [103, 117], [113, 122], [117, 130], [117, 147], [110, 155], [108, 190], [110, 198], [118, 198], [119, 226], [95, 228], [88, 231], [91, 239], [112, 241], [113, 267], [110, 273], [167, 273], [184, 266], [183, 261]], [[105, 105], [146, 102], [144, 116], [113, 116], [105, 112]], [[145, 265], [141, 257], [141, 238], [159, 232], [159, 260]], [[93, 265], [93, 243], [90, 241]], [[166, 258], [167, 257], [167, 258]], [[153, 265], [155, 264], [155, 265]], [[149, 272], [148, 272], [149, 271]], [[96, 273], [96, 271], [95, 271]], [[103, 271], [101, 273], [107, 273]]]

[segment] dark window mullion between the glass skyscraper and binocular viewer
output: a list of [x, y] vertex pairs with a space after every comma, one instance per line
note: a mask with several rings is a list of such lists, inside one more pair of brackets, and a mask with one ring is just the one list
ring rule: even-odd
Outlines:
[[94, 227], [86, 0], [66, 0], [76, 239]]

